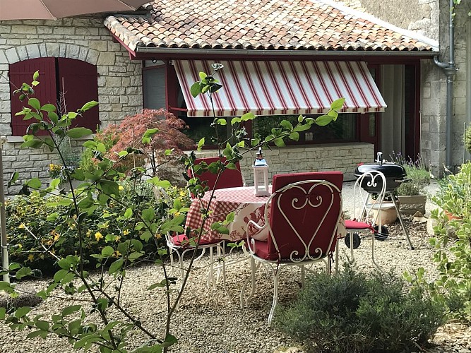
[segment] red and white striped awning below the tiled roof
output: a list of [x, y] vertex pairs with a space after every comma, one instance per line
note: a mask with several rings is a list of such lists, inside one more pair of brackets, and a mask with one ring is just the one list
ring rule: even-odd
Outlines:
[[[213, 73], [215, 61], [176, 60], [188, 116], [213, 116], [208, 95], [193, 98], [198, 73]], [[358, 61], [217, 61], [215, 78], [223, 88], [213, 95], [216, 116], [323, 114], [345, 97], [340, 112], [384, 112], [381, 97], [364, 62]]]

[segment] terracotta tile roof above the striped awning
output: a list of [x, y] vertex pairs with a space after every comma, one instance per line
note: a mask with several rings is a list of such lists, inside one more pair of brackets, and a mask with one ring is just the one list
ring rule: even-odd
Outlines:
[[145, 7], [148, 17], [105, 19], [107, 28], [132, 50], [436, 50], [405, 30], [323, 0], [155, 0]]

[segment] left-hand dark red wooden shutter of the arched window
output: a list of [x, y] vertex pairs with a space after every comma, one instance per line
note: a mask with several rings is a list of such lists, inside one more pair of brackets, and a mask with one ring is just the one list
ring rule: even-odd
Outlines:
[[[21, 102], [19, 95], [13, 96], [13, 91], [20, 88], [23, 83], [31, 83], [32, 74], [40, 71], [40, 84], [35, 87], [35, 95], [41, 104], [51, 103], [56, 105], [56, 64], [55, 58], [37, 58], [18, 61], [9, 66], [10, 76], [10, 101], [11, 101], [11, 134], [12, 136], [23, 136], [26, 128], [34, 119], [23, 120], [23, 116], [15, 116], [17, 112], [28, 106], [28, 100]], [[45, 133], [43, 133], [45, 134]]]

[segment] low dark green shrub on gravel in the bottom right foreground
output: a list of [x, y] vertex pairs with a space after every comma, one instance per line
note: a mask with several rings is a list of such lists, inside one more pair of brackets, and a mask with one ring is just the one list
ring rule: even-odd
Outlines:
[[278, 309], [275, 325], [309, 352], [401, 352], [424, 345], [443, 322], [442, 307], [423, 296], [393, 275], [318, 273]]

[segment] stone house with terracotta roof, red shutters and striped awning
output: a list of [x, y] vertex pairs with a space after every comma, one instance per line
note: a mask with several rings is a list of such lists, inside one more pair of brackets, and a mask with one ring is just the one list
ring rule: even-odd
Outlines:
[[[60, 102], [65, 92], [69, 109], [76, 109], [72, 97], [85, 101], [96, 95], [100, 105], [83, 124], [103, 128], [143, 107], [165, 107], [185, 119], [197, 138], [207, 133], [210, 112], [208, 102], [190, 100], [188, 83], [211, 63], [223, 62], [221, 80], [224, 92], [232, 92], [232, 105], [220, 95], [217, 112], [261, 115], [258, 124], [247, 126], [250, 133], [263, 133], [280, 115], [316, 116], [326, 112], [326, 102], [347, 97], [338, 124], [306, 131], [299, 143], [267, 151], [271, 173], [338, 169], [351, 174], [357, 163], [372, 161], [376, 150], [410, 156], [429, 151], [427, 157], [439, 166], [442, 151], [435, 156], [435, 135], [424, 133], [440, 128], [426, 116], [427, 100], [438, 92], [424, 81], [441, 75], [432, 61], [438, 42], [331, 0], [219, 0], [204, 6], [164, 0], [136, 13], [0, 22], [5, 179], [18, 170], [25, 179], [47, 181], [47, 166], [57, 160], [47, 150], [19, 148], [25, 126], [14, 116], [11, 82], [27, 80], [35, 66], [48, 78], [40, 79], [41, 85], [54, 82], [44, 89], [44, 102]], [[316, 89], [308, 89], [309, 82]], [[261, 91], [275, 102], [263, 101]], [[329, 96], [333, 91], [336, 95]], [[251, 158], [245, 163], [250, 182]]]

